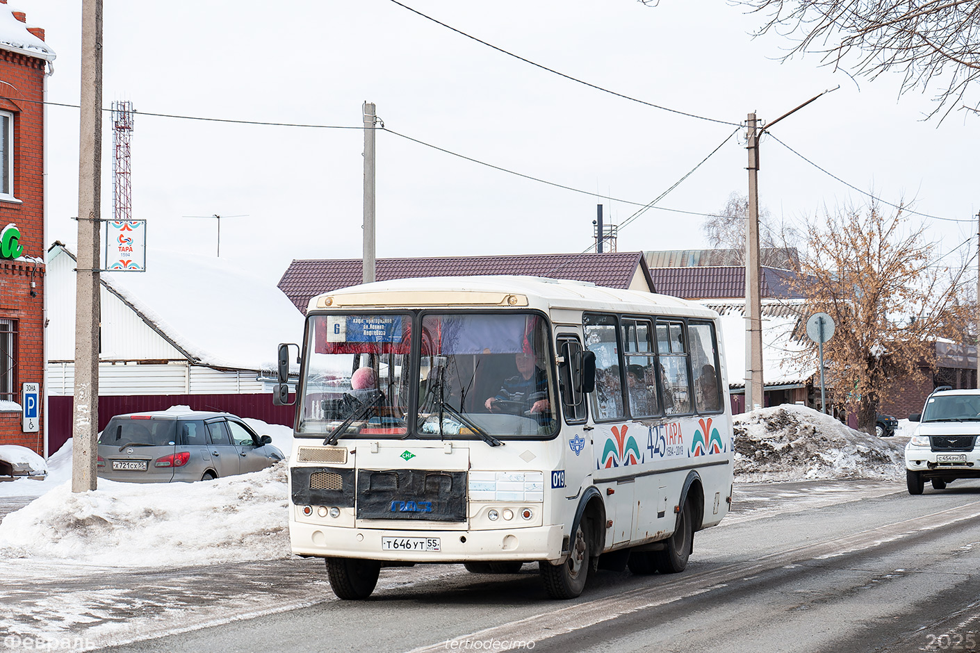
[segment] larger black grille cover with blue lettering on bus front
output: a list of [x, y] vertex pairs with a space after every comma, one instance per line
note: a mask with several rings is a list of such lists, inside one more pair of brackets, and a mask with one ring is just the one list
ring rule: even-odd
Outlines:
[[358, 519], [466, 521], [466, 472], [361, 470]]

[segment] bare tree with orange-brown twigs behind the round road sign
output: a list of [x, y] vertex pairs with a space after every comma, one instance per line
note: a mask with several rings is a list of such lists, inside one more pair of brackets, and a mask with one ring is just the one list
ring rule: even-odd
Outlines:
[[[880, 401], [925, 381], [936, 368], [936, 339], [963, 333], [971, 310], [965, 266], [950, 276], [932, 266], [924, 227], [911, 227], [901, 210], [840, 210], [810, 223], [809, 234], [794, 285], [805, 315], [822, 311], [836, 322], [824, 346], [832, 397], [873, 433]], [[811, 349], [802, 357], [815, 361], [816, 346], [805, 342]]]

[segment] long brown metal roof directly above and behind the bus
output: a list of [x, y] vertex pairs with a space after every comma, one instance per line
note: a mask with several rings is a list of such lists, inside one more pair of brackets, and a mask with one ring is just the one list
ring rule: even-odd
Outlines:
[[[641, 269], [650, 289], [655, 286], [642, 252], [608, 254], [535, 254], [506, 257], [378, 258], [378, 281], [412, 277], [508, 274], [591, 281], [597, 286], [629, 288]], [[361, 283], [360, 258], [293, 260], [279, 280], [279, 290], [306, 313], [310, 298]]]

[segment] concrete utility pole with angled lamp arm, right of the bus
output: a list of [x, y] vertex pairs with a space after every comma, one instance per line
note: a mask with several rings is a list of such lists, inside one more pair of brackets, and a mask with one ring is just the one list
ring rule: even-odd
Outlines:
[[762, 379], [762, 299], [759, 254], [759, 136], [756, 114], [747, 120], [749, 150], [749, 220], [745, 238], [745, 409], [765, 405]]

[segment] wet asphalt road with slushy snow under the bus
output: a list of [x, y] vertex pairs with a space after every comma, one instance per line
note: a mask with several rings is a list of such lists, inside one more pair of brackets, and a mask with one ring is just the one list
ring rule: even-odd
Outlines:
[[358, 602], [334, 599], [316, 560], [64, 578], [24, 560], [0, 569], [0, 631], [127, 652], [980, 648], [980, 482], [922, 496], [886, 482], [762, 484], [735, 498], [722, 526], [695, 536], [683, 574], [603, 571], [573, 601], [549, 600], [535, 565], [386, 569]]

